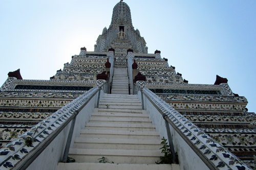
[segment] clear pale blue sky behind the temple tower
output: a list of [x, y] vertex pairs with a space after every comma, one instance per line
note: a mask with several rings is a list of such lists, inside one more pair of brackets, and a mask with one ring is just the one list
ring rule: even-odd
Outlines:
[[[148, 52], [161, 56], [195, 84], [228, 79], [256, 111], [256, 1], [124, 1]], [[24, 79], [49, 80], [79, 54], [94, 50], [118, 1], [0, 2], [0, 84], [20, 68]]]

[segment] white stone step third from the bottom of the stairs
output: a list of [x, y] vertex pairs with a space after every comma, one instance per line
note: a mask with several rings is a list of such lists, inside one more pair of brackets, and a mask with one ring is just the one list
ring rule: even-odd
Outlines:
[[80, 149], [114, 149], [157, 151], [162, 147], [160, 139], [110, 139], [84, 138], [75, 139], [74, 148]]

